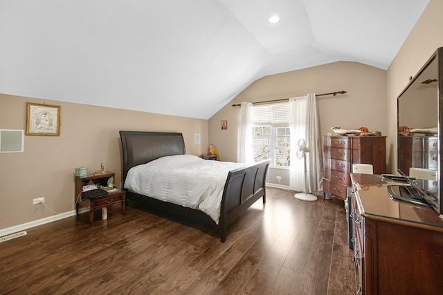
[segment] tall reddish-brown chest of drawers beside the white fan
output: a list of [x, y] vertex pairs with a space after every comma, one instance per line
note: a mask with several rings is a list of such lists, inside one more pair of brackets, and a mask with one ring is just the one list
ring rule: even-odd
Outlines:
[[352, 164], [372, 164], [374, 174], [386, 173], [386, 136], [323, 137], [323, 191], [345, 200]]

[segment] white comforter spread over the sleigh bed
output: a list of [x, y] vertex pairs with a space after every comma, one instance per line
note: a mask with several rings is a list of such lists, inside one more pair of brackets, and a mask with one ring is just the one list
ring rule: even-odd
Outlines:
[[129, 169], [125, 189], [199, 209], [218, 225], [228, 172], [244, 165], [203, 160], [196, 155], [170, 155]]

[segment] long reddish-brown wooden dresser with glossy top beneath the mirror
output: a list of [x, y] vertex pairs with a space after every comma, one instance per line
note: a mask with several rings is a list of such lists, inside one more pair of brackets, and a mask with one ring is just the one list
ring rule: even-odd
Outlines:
[[392, 200], [404, 182], [352, 173], [357, 294], [442, 294], [443, 220], [428, 207]]

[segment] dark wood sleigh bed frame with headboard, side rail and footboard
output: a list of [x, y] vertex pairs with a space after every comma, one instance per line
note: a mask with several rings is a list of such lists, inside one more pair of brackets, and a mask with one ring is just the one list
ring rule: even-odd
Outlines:
[[[120, 131], [120, 138], [123, 149], [123, 182], [133, 166], [167, 155], [186, 153], [182, 133]], [[226, 230], [231, 222], [242, 216], [242, 213], [260, 198], [266, 202], [266, 173], [270, 162], [265, 160], [228, 173], [221, 199], [218, 225], [221, 242], [226, 241]], [[172, 213], [217, 226], [206, 213], [197, 209], [163, 202], [132, 191], [126, 191], [126, 199], [145, 204], [155, 211]]]

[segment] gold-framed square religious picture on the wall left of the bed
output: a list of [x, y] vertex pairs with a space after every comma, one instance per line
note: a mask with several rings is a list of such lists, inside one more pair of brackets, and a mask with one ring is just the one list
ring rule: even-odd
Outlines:
[[26, 135], [60, 135], [60, 106], [26, 103]]

